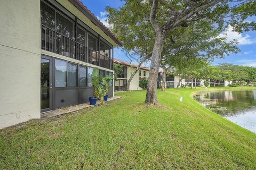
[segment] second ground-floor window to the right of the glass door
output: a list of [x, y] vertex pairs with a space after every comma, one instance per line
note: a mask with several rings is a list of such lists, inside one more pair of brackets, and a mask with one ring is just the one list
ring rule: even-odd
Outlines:
[[68, 87], [77, 87], [77, 65], [68, 63]]

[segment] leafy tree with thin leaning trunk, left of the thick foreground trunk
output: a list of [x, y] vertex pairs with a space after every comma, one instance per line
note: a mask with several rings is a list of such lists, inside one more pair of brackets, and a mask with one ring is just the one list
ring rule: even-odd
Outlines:
[[[137, 4], [136, 8], [133, 8]], [[140, 9], [140, 10], [138, 10]], [[154, 46], [154, 31], [145, 14], [146, 9], [141, 3], [127, 1], [121, 10], [107, 7], [108, 22], [113, 25], [111, 30], [123, 43], [123, 50], [130, 60], [133, 68], [130, 78], [127, 80], [127, 90], [130, 91], [130, 83], [141, 65], [151, 57]], [[134, 66], [132, 62], [137, 62]]]

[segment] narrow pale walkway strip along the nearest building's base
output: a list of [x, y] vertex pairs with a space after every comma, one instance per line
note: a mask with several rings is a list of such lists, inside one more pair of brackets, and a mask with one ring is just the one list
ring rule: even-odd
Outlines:
[[[111, 98], [108, 98], [108, 101], [119, 99], [119, 98], [121, 98], [121, 96], [111, 97]], [[100, 102], [97, 101], [96, 105], [100, 105]], [[54, 111], [43, 113], [41, 115], [41, 118], [53, 117], [53, 116], [58, 116], [58, 115], [62, 115], [62, 114], [70, 113], [70, 112], [76, 112], [76, 111], [79, 111], [81, 109], [88, 108], [88, 107], [93, 107], [93, 106], [96, 106], [96, 105], [90, 105], [90, 103], [84, 103], [84, 104], [75, 105], [75, 106], [63, 107], [63, 108], [56, 109]]]

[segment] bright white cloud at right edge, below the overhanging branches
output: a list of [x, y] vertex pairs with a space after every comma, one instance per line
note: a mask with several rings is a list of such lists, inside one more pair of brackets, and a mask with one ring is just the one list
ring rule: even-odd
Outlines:
[[233, 28], [229, 26], [225, 32], [219, 35], [219, 37], [227, 37], [228, 42], [236, 39], [239, 45], [249, 45], [249, 44], [256, 43], [256, 40], [252, 39], [250, 35], [248, 34], [242, 35], [241, 33], [234, 32], [232, 30]]

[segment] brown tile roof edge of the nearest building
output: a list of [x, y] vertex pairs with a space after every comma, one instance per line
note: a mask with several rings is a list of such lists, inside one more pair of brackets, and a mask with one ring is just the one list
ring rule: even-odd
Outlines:
[[103, 32], [106, 33], [110, 38], [112, 38], [116, 44], [122, 46], [120, 40], [111, 32], [88, 8], [79, 0], [69, 0], [71, 4], [76, 6], [79, 11], [81, 11], [87, 18], [89, 18], [95, 25], [97, 25]]

